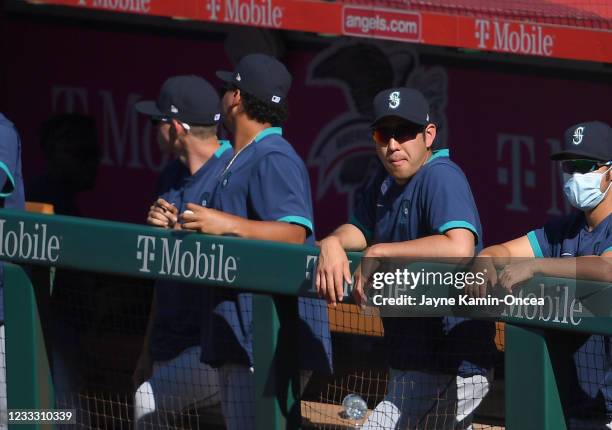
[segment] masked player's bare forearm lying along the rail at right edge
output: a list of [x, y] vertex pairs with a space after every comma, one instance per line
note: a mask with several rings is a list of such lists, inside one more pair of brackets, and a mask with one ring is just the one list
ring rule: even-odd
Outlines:
[[612, 261], [588, 256], [577, 258], [538, 258], [533, 260], [534, 272], [544, 276], [612, 282]]

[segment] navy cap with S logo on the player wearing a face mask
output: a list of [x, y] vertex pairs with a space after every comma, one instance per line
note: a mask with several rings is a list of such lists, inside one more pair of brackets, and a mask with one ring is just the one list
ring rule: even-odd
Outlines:
[[583, 122], [565, 130], [563, 149], [551, 160], [612, 160], [612, 129], [601, 121]]

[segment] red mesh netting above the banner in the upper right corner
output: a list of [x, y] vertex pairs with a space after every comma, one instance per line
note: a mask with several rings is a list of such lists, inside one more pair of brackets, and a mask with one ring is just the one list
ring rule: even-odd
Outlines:
[[611, 29], [608, 0], [343, 0], [344, 3], [412, 9], [576, 27]]

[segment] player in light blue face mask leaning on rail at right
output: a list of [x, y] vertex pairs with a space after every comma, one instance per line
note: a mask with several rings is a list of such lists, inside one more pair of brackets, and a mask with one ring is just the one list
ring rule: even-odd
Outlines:
[[[489, 287], [511, 291], [535, 274], [612, 281], [612, 129], [594, 121], [565, 131], [560, 161], [563, 191], [578, 212], [553, 219], [525, 236], [484, 249], [477, 264], [489, 274]], [[530, 257], [512, 263], [512, 257]], [[535, 257], [535, 258], [533, 258]], [[510, 263], [510, 264], [509, 264]], [[497, 274], [495, 267], [505, 268]], [[486, 287], [470, 294], [485, 296]], [[568, 380], [578, 389], [565, 407], [571, 428], [612, 429], [612, 343], [610, 337], [561, 334], [573, 363]], [[580, 417], [582, 415], [582, 418]], [[590, 422], [585, 423], [584, 419]]]

